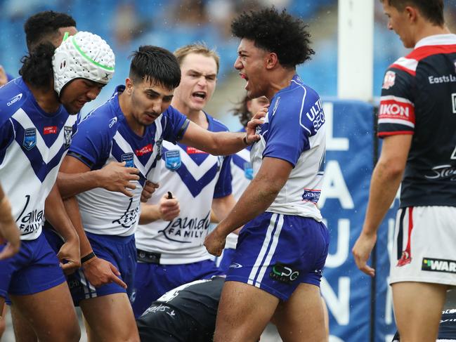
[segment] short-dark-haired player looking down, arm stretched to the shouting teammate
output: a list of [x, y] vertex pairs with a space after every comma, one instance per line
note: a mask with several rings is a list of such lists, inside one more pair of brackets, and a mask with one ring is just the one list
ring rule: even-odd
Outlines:
[[[67, 199], [72, 203], [67, 210], [79, 234], [82, 255], [82, 270], [75, 275], [78, 281], [70, 286], [86, 318], [90, 341], [138, 341], [129, 302], [136, 272], [134, 232], [143, 185], [146, 180], [157, 182], [162, 141], [181, 140], [200, 150], [230, 154], [257, 138], [253, 126], [248, 135], [212, 133], [186, 119], [169, 106], [180, 81], [181, 70], [172, 53], [141, 46], [133, 53], [125, 85], [117, 86], [112, 98], [79, 124], [84, 134], [75, 136], [60, 168], [68, 179], [62, 183], [63, 192], [74, 186], [81, 173], [112, 161], [139, 171], [131, 198], [92, 188]], [[98, 259], [108, 263], [98, 268]], [[112, 272], [117, 277], [111, 277]]]

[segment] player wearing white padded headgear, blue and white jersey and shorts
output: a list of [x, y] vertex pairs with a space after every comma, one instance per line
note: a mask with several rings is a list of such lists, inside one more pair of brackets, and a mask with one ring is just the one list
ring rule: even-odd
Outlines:
[[[101, 74], [100, 58], [110, 63], [108, 73]], [[44, 213], [44, 204], [52, 192], [57, 193], [54, 199], [60, 198], [55, 181], [77, 131], [76, 114], [112, 77], [114, 54], [100, 37], [79, 32], [57, 49], [50, 43], [39, 44], [22, 63], [22, 77], [0, 88], [0, 178], [22, 240], [18, 254], [0, 261], [0, 308], [8, 295], [40, 341], [79, 341], [79, 325], [62, 272], [79, 266], [79, 240], [63, 203], [53, 202], [52, 218]], [[62, 253], [59, 258], [68, 263], [59, 265], [41, 234], [44, 216], [76, 248], [72, 254], [76, 259]]]

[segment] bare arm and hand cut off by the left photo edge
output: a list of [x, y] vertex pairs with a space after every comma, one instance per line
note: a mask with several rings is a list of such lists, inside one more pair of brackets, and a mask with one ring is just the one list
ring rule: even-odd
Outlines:
[[0, 252], [0, 260], [9, 258], [20, 249], [20, 234], [17, 225], [11, 216], [11, 204], [0, 186], [0, 244], [6, 246]]

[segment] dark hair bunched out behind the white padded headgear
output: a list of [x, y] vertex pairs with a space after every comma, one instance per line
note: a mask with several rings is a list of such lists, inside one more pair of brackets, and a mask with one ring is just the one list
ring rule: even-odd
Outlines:
[[52, 86], [52, 58], [56, 48], [49, 42], [36, 46], [20, 60], [19, 74], [22, 79], [36, 88], [48, 89]]

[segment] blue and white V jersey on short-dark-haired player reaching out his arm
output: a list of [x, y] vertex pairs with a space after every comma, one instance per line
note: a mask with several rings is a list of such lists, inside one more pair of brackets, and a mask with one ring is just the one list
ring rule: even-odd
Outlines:
[[98, 235], [129, 236], [135, 232], [143, 185], [161, 157], [162, 140], [176, 143], [188, 126], [187, 118], [169, 107], [145, 128], [143, 136], [136, 135], [119, 107], [118, 96], [124, 88], [117, 86], [108, 102], [89, 113], [79, 124], [81, 134], [70, 146], [69, 155], [92, 170], [110, 162], [126, 162], [125, 166], [136, 167], [140, 172], [140, 180], [133, 182], [136, 189], [130, 190], [131, 198], [103, 188], [77, 195], [84, 229]]

